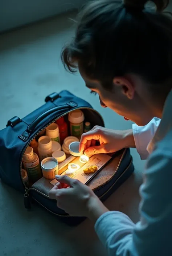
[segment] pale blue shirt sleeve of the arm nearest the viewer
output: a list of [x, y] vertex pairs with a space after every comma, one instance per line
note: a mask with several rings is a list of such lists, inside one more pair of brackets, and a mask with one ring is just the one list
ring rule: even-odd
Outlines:
[[155, 150], [140, 187], [140, 221], [118, 211], [106, 212], [95, 231], [110, 256], [172, 255], [172, 154]]

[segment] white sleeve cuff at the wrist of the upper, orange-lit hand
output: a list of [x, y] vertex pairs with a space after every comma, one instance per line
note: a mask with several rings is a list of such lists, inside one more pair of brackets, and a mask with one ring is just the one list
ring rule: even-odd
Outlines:
[[160, 124], [161, 119], [154, 117], [147, 125], [138, 126], [135, 123], [132, 125], [134, 141], [136, 149], [142, 160], [148, 158], [147, 146], [148, 143], [152, 140], [157, 127]]

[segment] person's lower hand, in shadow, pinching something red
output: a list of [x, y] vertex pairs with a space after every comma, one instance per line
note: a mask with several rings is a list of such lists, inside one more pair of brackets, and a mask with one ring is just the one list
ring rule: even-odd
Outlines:
[[77, 179], [56, 175], [58, 183], [49, 196], [57, 200], [57, 206], [71, 216], [84, 216], [97, 220], [108, 211], [94, 192]]

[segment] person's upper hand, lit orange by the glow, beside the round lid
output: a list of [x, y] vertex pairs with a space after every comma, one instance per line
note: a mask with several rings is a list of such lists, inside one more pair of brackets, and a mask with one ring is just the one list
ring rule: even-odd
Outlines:
[[[97, 141], [99, 146], [96, 146]], [[135, 147], [132, 129], [119, 131], [94, 126], [93, 129], [82, 134], [79, 151], [84, 151], [89, 157], [98, 153], [114, 153], [126, 147]]]

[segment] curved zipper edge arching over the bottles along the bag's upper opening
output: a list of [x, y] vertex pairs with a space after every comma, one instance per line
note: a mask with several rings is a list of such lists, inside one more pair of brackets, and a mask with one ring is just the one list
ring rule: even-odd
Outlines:
[[[76, 109], [90, 109], [90, 110], [95, 111], [97, 114], [99, 114], [95, 109], [91, 109], [90, 107], [77, 107]], [[25, 152], [26, 147], [28, 147], [28, 146], [30, 145], [30, 142], [33, 141], [33, 139], [36, 138], [37, 135], [38, 135], [41, 131], [45, 130], [46, 127], [48, 127], [49, 125], [51, 125], [52, 123], [54, 123], [55, 121], [57, 121], [59, 118], [64, 117], [64, 115], [67, 115], [67, 114], [69, 114], [71, 111], [76, 110], [76, 109], [71, 109], [71, 110], [65, 112], [65, 114], [60, 115], [60, 117], [57, 117], [57, 118], [53, 119], [52, 122], [50, 122], [48, 125], [44, 126], [44, 128], [42, 128], [39, 132], [37, 132], [37, 133], [32, 137], [32, 139], [30, 139], [30, 140], [28, 141], [28, 143], [26, 144], [26, 146], [24, 147], [24, 149], [22, 149], [22, 155], [21, 155], [21, 157], [20, 157], [20, 176], [21, 176], [21, 180], [22, 180], [22, 183], [23, 183], [25, 189], [27, 188], [27, 186], [26, 186], [25, 183], [23, 182], [21, 169], [22, 169], [22, 159], [23, 159], [23, 156], [24, 156], [24, 152]], [[103, 124], [105, 124], [104, 121], [103, 121], [102, 116], [101, 116], [100, 114], [99, 114], [99, 116], [101, 117]]]

